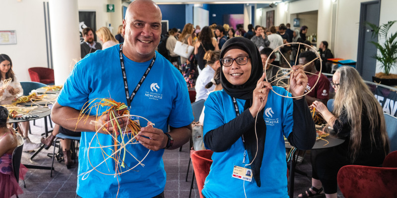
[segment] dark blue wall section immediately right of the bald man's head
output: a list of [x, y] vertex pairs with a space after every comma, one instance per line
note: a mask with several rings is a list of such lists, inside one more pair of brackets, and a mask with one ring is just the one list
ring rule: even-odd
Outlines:
[[186, 8], [185, 4], [159, 4], [161, 13], [163, 14], [162, 20], [168, 20], [169, 28], [178, 28], [183, 30], [186, 24]]

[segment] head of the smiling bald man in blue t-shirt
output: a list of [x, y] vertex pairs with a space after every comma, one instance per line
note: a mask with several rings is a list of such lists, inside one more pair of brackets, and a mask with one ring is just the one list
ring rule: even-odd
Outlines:
[[152, 1], [137, 0], [130, 4], [123, 20], [124, 54], [137, 62], [153, 58], [160, 43], [161, 11]]

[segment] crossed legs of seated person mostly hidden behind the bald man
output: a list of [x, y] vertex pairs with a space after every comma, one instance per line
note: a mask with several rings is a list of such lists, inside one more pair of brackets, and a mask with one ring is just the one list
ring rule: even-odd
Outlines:
[[[41, 138], [41, 143], [45, 145], [45, 149], [48, 149], [53, 145], [55, 136], [59, 133], [65, 134], [67, 136], [73, 136], [73, 137], [80, 137], [81, 132], [74, 132], [65, 129], [64, 127], [59, 126], [58, 124], [55, 124], [53, 132], [48, 136], [47, 138]], [[69, 169], [73, 165], [73, 161], [71, 160], [70, 156], [70, 139], [62, 139], [61, 140], [61, 146], [62, 146], [62, 152], [64, 154], [64, 161], [66, 168]]]

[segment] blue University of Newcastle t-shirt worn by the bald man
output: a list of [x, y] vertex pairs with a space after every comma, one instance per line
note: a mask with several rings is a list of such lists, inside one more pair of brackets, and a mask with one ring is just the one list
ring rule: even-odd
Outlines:
[[[90, 53], [80, 60], [66, 80], [65, 86], [58, 97], [58, 103], [77, 110], [91, 99], [112, 98], [118, 102], [127, 104], [123, 74], [120, 66], [119, 45]], [[134, 62], [123, 55], [127, 82], [130, 94], [135, 89], [150, 61]], [[97, 100], [99, 101], [99, 100]], [[100, 108], [98, 114], [106, 110]], [[91, 110], [91, 115], [96, 114], [96, 109]], [[142, 116], [152, 123], [154, 127], [168, 132], [168, 126], [175, 128], [189, 125], [194, 117], [190, 104], [189, 93], [182, 74], [162, 55], [156, 51], [155, 63], [145, 78], [140, 89], [131, 103], [132, 115]], [[146, 126], [147, 121], [139, 120], [140, 126]], [[81, 121], [80, 121], [81, 122]], [[89, 123], [87, 123], [89, 124]], [[99, 148], [91, 147], [113, 145], [111, 136], [94, 132], [82, 132], [79, 151], [78, 174], [86, 173], [96, 167], [107, 158]], [[128, 138], [124, 138], [128, 140]], [[121, 137], [119, 136], [119, 141]], [[98, 144], [100, 142], [100, 145]], [[118, 172], [126, 171], [135, 166], [148, 152], [141, 144], [128, 145], [126, 153], [126, 167], [119, 167]], [[107, 154], [111, 154], [110, 148], [103, 148]], [[152, 198], [164, 191], [166, 174], [162, 160], [164, 150], [152, 151], [142, 161], [144, 167], [136, 166], [129, 172], [123, 173], [118, 178], [103, 175], [97, 171], [89, 175], [80, 175], [77, 180], [77, 194], [83, 198], [108, 198], [115, 197], [119, 189], [120, 198]], [[124, 152], [120, 153], [123, 158]], [[92, 165], [90, 165], [90, 163]], [[96, 167], [102, 173], [115, 174], [114, 159], [107, 159]], [[85, 179], [86, 178], [86, 179]]]

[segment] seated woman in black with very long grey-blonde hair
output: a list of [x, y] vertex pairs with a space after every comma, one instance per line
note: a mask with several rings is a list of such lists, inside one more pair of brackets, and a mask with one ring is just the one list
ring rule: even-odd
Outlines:
[[336, 198], [336, 176], [342, 166], [379, 166], [389, 152], [382, 107], [357, 70], [350, 66], [337, 69], [332, 87], [336, 92], [332, 112], [319, 101], [312, 106], [345, 142], [322, 151], [312, 150], [312, 187], [299, 197], [325, 193], [327, 198]]

